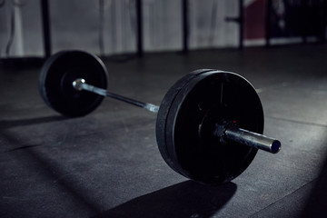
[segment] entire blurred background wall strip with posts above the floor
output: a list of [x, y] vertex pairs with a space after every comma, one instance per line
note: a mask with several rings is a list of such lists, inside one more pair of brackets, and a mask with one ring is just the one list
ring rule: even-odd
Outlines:
[[0, 57], [324, 42], [325, 14], [323, 0], [1, 0]]

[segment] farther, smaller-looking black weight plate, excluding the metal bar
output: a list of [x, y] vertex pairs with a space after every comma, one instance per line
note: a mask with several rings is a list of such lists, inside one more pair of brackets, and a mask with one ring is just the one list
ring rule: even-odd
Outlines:
[[51, 108], [68, 117], [89, 114], [101, 104], [104, 96], [77, 91], [73, 82], [84, 78], [87, 84], [106, 89], [107, 71], [94, 54], [64, 51], [51, 56], [41, 69], [39, 90]]

